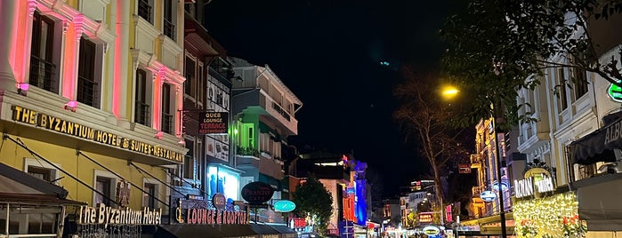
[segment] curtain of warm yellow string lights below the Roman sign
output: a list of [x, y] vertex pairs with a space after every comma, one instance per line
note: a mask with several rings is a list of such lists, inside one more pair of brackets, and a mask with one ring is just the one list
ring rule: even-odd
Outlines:
[[[564, 233], [564, 218], [578, 218], [577, 196], [573, 192], [556, 194], [532, 200], [517, 201], [513, 205], [515, 230], [519, 237], [569, 237]], [[584, 221], [572, 226], [581, 236], [586, 230]]]

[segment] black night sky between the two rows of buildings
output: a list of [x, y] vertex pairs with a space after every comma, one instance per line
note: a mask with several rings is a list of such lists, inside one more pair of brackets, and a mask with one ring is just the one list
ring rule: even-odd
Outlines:
[[[214, 0], [206, 28], [229, 52], [268, 64], [303, 108], [289, 141], [354, 152], [398, 193], [422, 171], [392, 119], [399, 68], [434, 67], [450, 0]], [[388, 61], [390, 66], [380, 64]]]

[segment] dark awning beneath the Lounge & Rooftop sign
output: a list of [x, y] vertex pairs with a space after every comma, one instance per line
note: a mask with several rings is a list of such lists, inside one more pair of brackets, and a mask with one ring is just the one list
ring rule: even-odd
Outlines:
[[[161, 229], [155, 234], [156, 237], [259, 237], [261, 234], [286, 234], [286, 237], [296, 234], [294, 230], [287, 226], [270, 226], [261, 224], [247, 225], [160, 225]], [[293, 236], [295, 237], [295, 236]]]

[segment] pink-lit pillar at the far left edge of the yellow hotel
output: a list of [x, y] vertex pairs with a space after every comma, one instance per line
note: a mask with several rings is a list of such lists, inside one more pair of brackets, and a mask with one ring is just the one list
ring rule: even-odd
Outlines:
[[17, 1], [0, 1], [0, 20], [3, 27], [0, 28], [0, 88], [17, 90], [15, 87], [15, 75], [13, 74], [12, 62], [15, 56], [16, 40], [16, 15], [18, 12]]

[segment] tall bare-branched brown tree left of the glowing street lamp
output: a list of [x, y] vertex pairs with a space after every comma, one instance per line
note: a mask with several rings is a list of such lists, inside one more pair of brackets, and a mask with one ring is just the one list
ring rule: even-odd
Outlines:
[[[415, 139], [421, 155], [430, 164], [434, 193], [443, 197], [441, 176], [446, 173], [449, 160], [464, 156], [464, 149], [456, 141], [460, 131], [452, 126], [452, 106], [440, 99], [440, 81], [436, 75], [420, 75], [408, 68], [404, 70], [406, 81], [397, 86], [395, 96], [400, 107], [393, 114], [400, 122], [405, 139]], [[438, 199], [438, 209], [442, 200]]]

